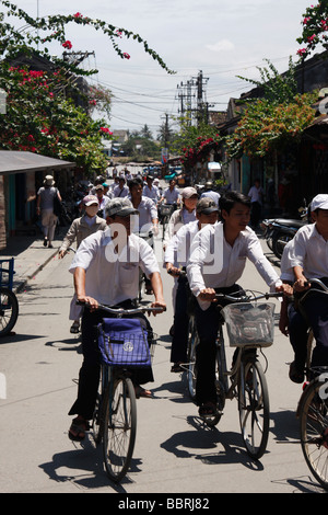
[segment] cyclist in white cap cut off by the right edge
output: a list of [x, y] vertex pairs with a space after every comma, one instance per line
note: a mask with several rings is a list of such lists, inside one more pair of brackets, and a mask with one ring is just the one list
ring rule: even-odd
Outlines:
[[[308, 281], [318, 278], [328, 286], [328, 194], [316, 195], [311, 204], [314, 224], [302, 227], [295, 234], [294, 256], [291, 261], [297, 293], [315, 285]], [[316, 340], [312, 366], [328, 365], [328, 297], [309, 294], [302, 304]]]

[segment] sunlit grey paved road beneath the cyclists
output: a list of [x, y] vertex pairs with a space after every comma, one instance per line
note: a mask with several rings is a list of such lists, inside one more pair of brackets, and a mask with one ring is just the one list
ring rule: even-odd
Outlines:
[[[266, 455], [251, 461], [239, 434], [236, 402], [227, 402], [218, 427], [206, 427], [187, 396], [186, 378], [169, 371], [172, 309], [153, 320], [160, 335], [154, 357], [154, 399], [138, 400], [132, 467], [119, 487], [102, 467], [92, 438], [83, 445], [67, 436], [81, 364], [79, 336], [69, 332], [73, 293], [71, 258], [54, 259], [19, 295], [16, 335], [1, 340], [1, 492], [32, 493], [292, 493], [321, 492], [311, 478], [297, 439], [295, 408], [300, 387], [288, 378], [288, 340], [277, 329], [266, 350], [271, 433]], [[169, 304], [173, 279], [164, 275]], [[266, 290], [253, 265], [244, 287]], [[145, 495], [147, 497], [147, 495]]]

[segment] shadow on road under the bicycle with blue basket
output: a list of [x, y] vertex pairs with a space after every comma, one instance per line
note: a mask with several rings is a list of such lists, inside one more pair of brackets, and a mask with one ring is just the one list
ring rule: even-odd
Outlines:
[[105, 471], [102, 445], [96, 446], [90, 434], [83, 443], [72, 442], [72, 445], [74, 446], [72, 450], [55, 454], [50, 461], [39, 465], [51, 481], [70, 482], [78, 489], [84, 490], [108, 488], [117, 493], [126, 493], [124, 485], [133, 482], [129, 473], [141, 471], [141, 460], [132, 458], [128, 474], [117, 484]]

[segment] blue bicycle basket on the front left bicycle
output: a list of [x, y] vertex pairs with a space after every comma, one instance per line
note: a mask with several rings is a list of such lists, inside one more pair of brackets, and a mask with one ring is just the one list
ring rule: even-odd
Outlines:
[[149, 367], [152, 343], [152, 334], [140, 319], [104, 319], [98, 324], [98, 347], [107, 365]]

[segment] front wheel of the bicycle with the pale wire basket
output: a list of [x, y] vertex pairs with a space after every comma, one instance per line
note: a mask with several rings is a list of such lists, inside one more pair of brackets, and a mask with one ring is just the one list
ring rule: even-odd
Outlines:
[[238, 411], [247, 453], [253, 459], [260, 459], [268, 444], [270, 409], [266, 376], [256, 359], [244, 363], [241, 369]]

